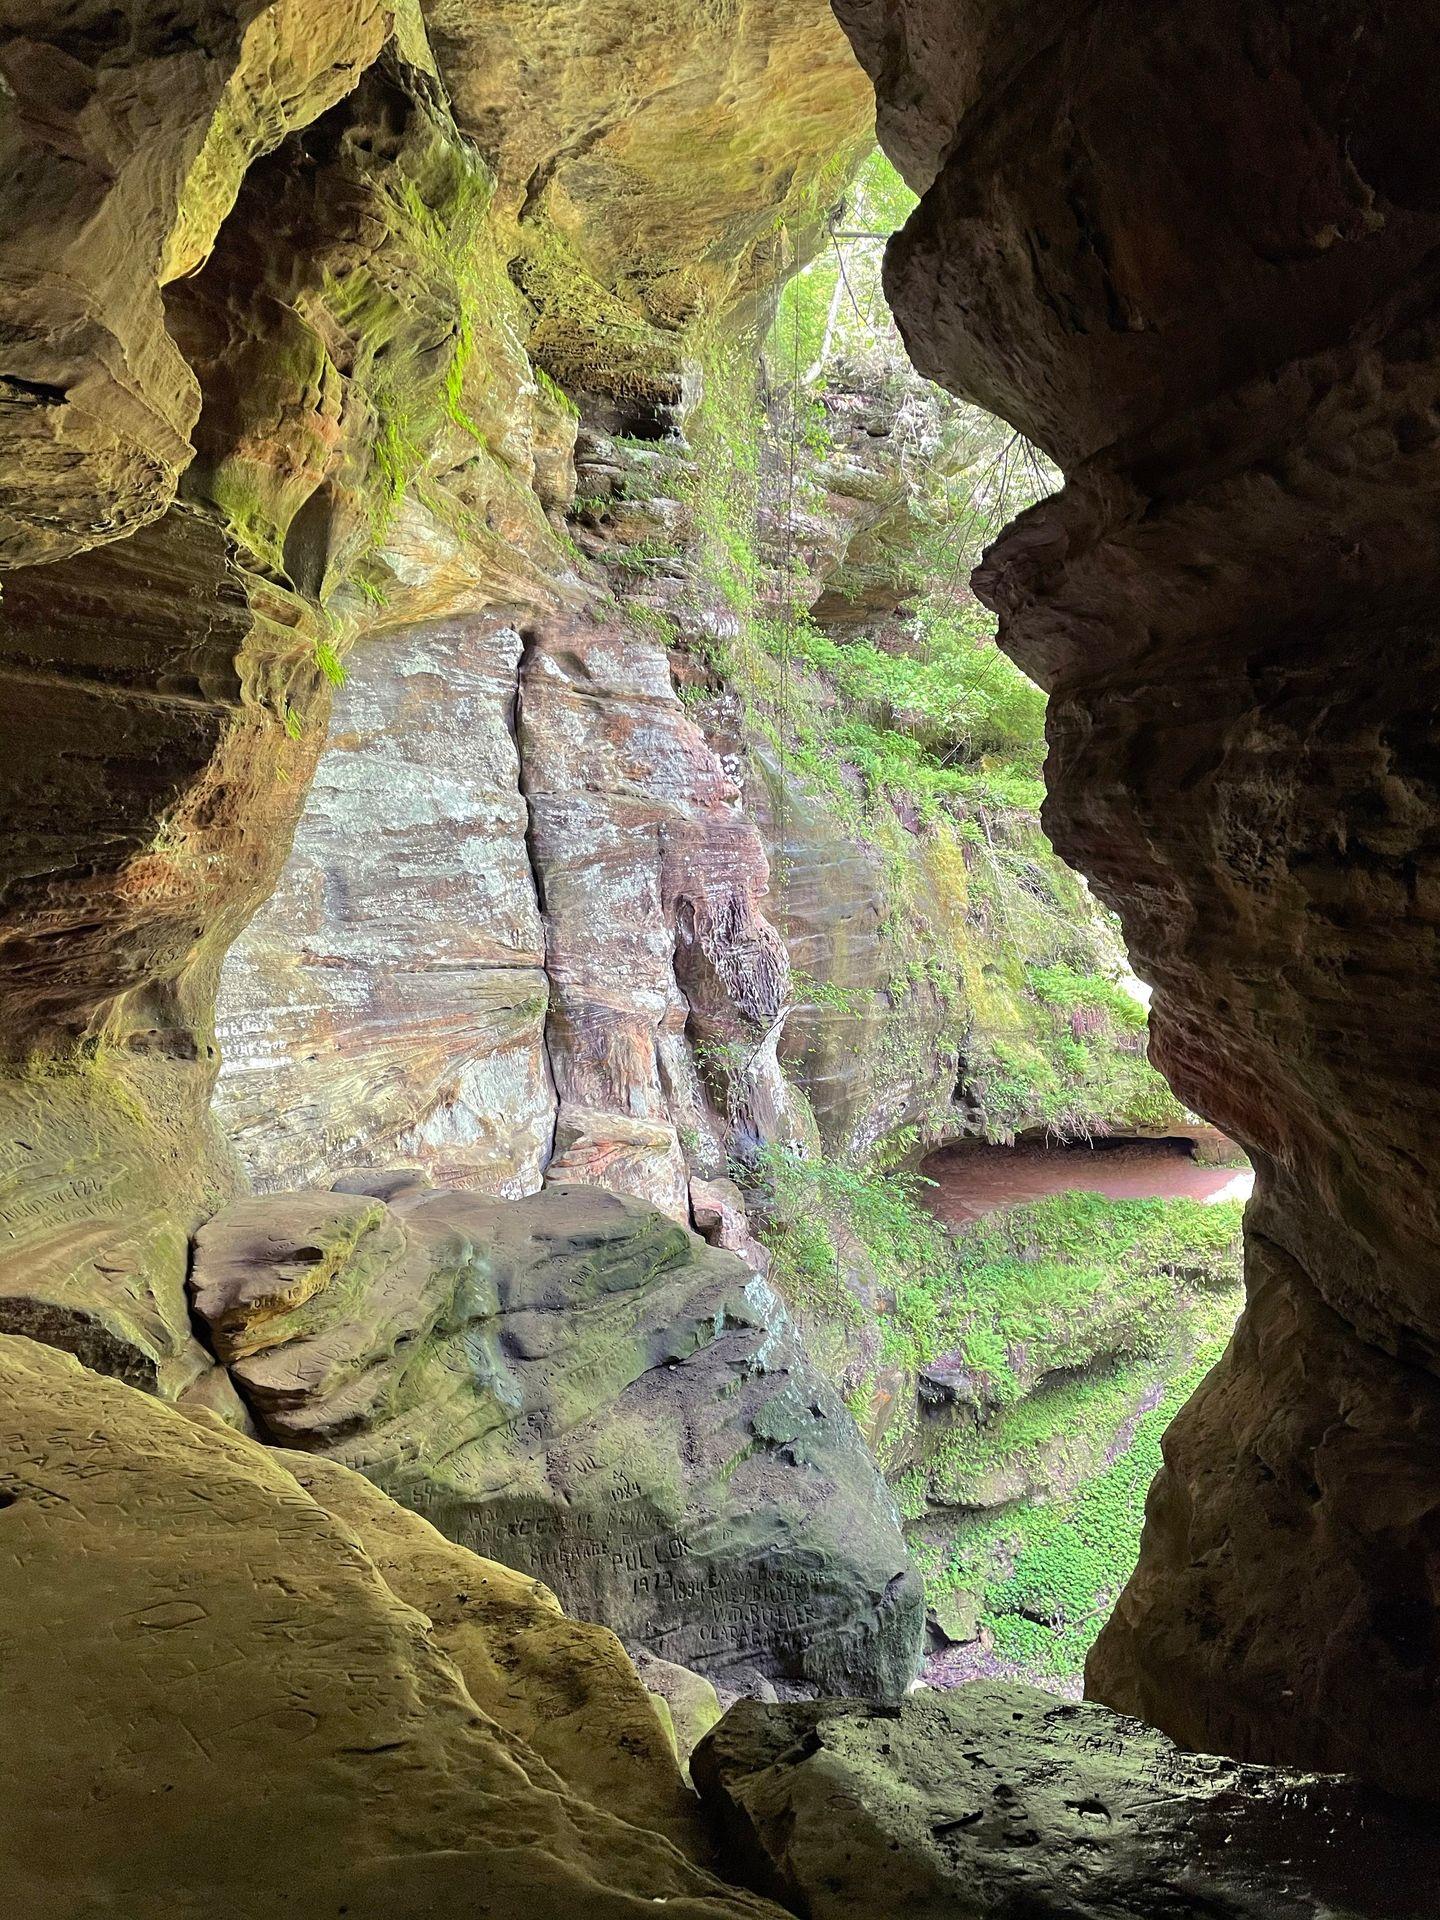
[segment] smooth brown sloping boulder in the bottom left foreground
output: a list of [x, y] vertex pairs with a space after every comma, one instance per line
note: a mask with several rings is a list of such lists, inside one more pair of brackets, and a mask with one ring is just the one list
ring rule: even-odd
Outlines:
[[778, 1920], [620, 1818], [641, 1774], [660, 1824], [680, 1786], [653, 1738], [624, 1751], [647, 1709], [609, 1636], [532, 1596], [516, 1653], [511, 1594], [467, 1645], [407, 1601], [442, 1597], [438, 1555], [461, 1596], [499, 1569], [67, 1354], [0, 1336], [0, 1396], [10, 1912]]

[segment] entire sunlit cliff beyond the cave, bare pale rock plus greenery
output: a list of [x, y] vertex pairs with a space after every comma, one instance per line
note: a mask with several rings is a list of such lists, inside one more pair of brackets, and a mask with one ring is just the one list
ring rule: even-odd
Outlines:
[[[263, 1187], [396, 1162], [501, 1196], [586, 1181], [772, 1258], [948, 1636], [1014, 1640], [1020, 1536], [1135, 1434], [1139, 1511], [1156, 1404], [1223, 1340], [1233, 1235], [1198, 1286], [1173, 1258], [1188, 1219], [1148, 1213], [1106, 1221], [1083, 1271], [1041, 1233], [1000, 1273], [900, 1171], [952, 1137], [1194, 1121], [1041, 831], [1039, 693], [964, 588], [1004, 442], [883, 324], [801, 382], [804, 313], [695, 342], [662, 440], [588, 403], [549, 607], [351, 655], [225, 972], [219, 1112]], [[1004, 1390], [960, 1390], [972, 1348]], [[966, 1446], [995, 1471], [962, 1473]], [[1094, 1505], [1116, 1519], [1114, 1490]], [[1119, 1515], [1016, 1661], [1073, 1672], [1129, 1557]]]

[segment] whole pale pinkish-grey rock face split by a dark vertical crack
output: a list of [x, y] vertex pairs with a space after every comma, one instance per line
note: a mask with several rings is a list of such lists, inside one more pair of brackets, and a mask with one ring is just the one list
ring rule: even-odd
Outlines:
[[[355, 655], [290, 860], [221, 983], [217, 1114], [257, 1187], [401, 1160], [501, 1194], [586, 1181], [689, 1221], [693, 1181], [803, 1135], [764, 845], [666, 645], [668, 609], [714, 616], [666, 493], [687, 465], [684, 442], [582, 428], [589, 564], [566, 603]], [[632, 557], [657, 530], [672, 572], [651, 578]]]

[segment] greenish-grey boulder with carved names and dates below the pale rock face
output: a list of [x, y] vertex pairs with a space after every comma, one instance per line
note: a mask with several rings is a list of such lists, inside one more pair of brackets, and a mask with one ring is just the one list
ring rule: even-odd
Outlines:
[[899, 1695], [895, 1505], [772, 1288], [593, 1188], [242, 1200], [194, 1304], [261, 1432], [732, 1688]]

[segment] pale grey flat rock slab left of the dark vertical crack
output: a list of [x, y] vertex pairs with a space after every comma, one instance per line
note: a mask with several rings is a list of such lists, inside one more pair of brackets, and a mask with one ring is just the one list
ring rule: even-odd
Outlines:
[[555, 1089], [520, 653], [474, 614], [353, 659], [290, 860], [221, 977], [217, 1114], [255, 1187], [397, 1160], [540, 1185]]

